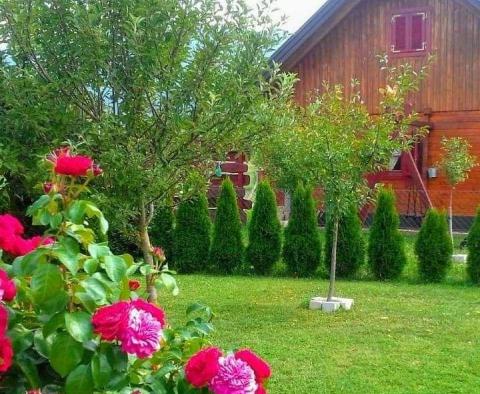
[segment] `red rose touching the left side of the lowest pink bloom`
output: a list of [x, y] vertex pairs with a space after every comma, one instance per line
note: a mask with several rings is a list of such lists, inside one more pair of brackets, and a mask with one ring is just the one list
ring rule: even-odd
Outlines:
[[216, 347], [200, 350], [185, 365], [187, 381], [196, 388], [205, 387], [217, 375], [220, 357], [222, 352]]

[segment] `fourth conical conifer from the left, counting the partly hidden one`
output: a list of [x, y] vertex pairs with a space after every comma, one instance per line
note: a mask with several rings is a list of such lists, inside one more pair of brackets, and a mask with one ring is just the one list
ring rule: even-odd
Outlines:
[[247, 261], [257, 274], [268, 274], [280, 258], [281, 230], [275, 193], [268, 182], [260, 182], [248, 226], [247, 248]]

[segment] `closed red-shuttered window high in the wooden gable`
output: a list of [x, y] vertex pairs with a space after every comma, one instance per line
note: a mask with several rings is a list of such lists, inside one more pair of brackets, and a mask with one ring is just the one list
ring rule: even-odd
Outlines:
[[427, 11], [402, 11], [392, 16], [391, 51], [394, 54], [421, 54], [428, 48]]

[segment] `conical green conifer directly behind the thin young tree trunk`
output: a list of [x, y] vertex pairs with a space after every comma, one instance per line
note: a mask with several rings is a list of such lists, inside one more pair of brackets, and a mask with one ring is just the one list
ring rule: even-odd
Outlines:
[[[334, 222], [327, 215], [325, 239], [325, 266], [330, 269], [332, 258]], [[342, 215], [338, 225], [337, 241], [337, 275], [353, 277], [365, 262], [365, 239], [362, 234], [362, 223], [356, 208], [352, 207]]]

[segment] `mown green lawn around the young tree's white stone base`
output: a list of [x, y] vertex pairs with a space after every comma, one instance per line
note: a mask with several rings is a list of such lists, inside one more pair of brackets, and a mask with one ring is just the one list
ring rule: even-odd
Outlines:
[[480, 392], [480, 289], [461, 284], [338, 282], [350, 312], [306, 309], [318, 279], [179, 276], [163, 295], [173, 324], [187, 305], [216, 313], [212, 340], [249, 346], [273, 368], [275, 393]]

